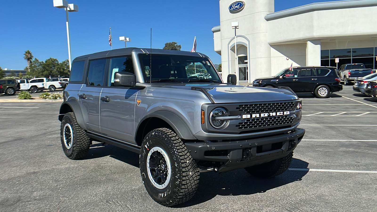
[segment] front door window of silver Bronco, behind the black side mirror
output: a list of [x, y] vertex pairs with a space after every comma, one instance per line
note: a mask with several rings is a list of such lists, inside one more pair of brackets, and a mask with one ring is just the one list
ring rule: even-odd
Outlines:
[[109, 86], [114, 86], [115, 72], [129, 72], [135, 74], [132, 57], [117, 57], [110, 59], [109, 79], [107, 80]]

